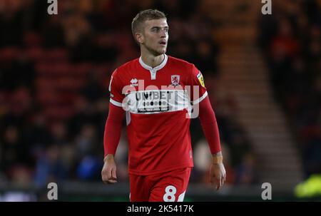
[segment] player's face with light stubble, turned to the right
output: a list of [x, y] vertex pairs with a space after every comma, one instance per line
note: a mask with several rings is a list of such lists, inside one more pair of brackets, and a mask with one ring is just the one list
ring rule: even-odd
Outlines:
[[142, 46], [154, 56], [166, 52], [168, 42], [168, 24], [166, 19], [153, 19], [145, 21], [142, 37]]

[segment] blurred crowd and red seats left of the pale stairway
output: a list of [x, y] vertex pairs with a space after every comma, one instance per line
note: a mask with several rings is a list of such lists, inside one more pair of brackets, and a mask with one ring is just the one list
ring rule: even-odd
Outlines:
[[[2, 181], [100, 181], [108, 79], [114, 68], [139, 56], [131, 20], [141, 9], [168, 14], [168, 54], [195, 63], [208, 78], [208, 88], [215, 86], [218, 46], [210, 35], [214, 24], [203, 16], [198, 1], [59, 1], [54, 16], [47, 14], [46, 1], [1, 2]], [[230, 98], [218, 103], [233, 106]], [[246, 162], [242, 165], [250, 153], [242, 127], [217, 115], [233, 158], [228, 182], [252, 182], [250, 157], [249, 168]], [[209, 158], [199, 143], [203, 132], [198, 120], [193, 120], [191, 133], [197, 164], [191, 181], [200, 182], [208, 170], [203, 159]], [[121, 181], [127, 180], [126, 154], [123, 130], [116, 156]]]

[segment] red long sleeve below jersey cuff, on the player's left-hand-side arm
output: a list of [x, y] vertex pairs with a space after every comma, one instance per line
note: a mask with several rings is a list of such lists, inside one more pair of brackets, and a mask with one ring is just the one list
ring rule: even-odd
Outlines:
[[123, 121], [123, 108], [110, 103], [108, 118], [106, 120], [105, 132], [103, 135], [104, 156], [115, 155], [116, 149], [121, 139], [121, 123]]

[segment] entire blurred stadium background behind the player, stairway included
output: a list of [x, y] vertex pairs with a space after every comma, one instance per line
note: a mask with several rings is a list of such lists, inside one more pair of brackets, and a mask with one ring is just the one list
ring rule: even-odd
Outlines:
[[108, 81], [139, 56], [131, 20], [165, 11], [168, 54], [195, 63], [218, 118], [228, 178], [208, 184], [208, 145], [190, 126], [186, 201], [321, 200], [321, 1], [0, 0], [0, 200], [128, 201], [126, 128], [118, 183], [101, 182]]

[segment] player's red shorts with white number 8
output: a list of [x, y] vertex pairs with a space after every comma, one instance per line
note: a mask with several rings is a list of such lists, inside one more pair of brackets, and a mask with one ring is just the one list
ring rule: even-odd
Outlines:
[[183, 202], [192, 168], [155, 175], [129, 175], [131, 202]]

